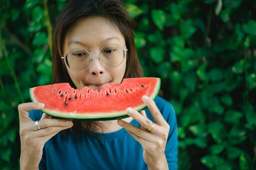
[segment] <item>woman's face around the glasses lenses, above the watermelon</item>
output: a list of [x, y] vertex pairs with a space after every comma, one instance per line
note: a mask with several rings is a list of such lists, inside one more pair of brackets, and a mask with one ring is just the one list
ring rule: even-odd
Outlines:
[[99, 52], [101, 47], [107, 44], [118, 44], [126, 49], [122, 34], [103, 17], [91, 16], [79, 19], [67, 32], [63, 44], [63, 55], [70, 49], [83, 48], [92, 56], [92, 62], [82, 72], [75, 72], [66, 68], [77, 89], [88, 86], [99, 90], [110, 82], [121, 82], [125, 72], [126, 52], [124, 52], [124, 61], [120, 65], [113, 68], [106, 67], [98, 59], [98, 53], [95, 52]]

